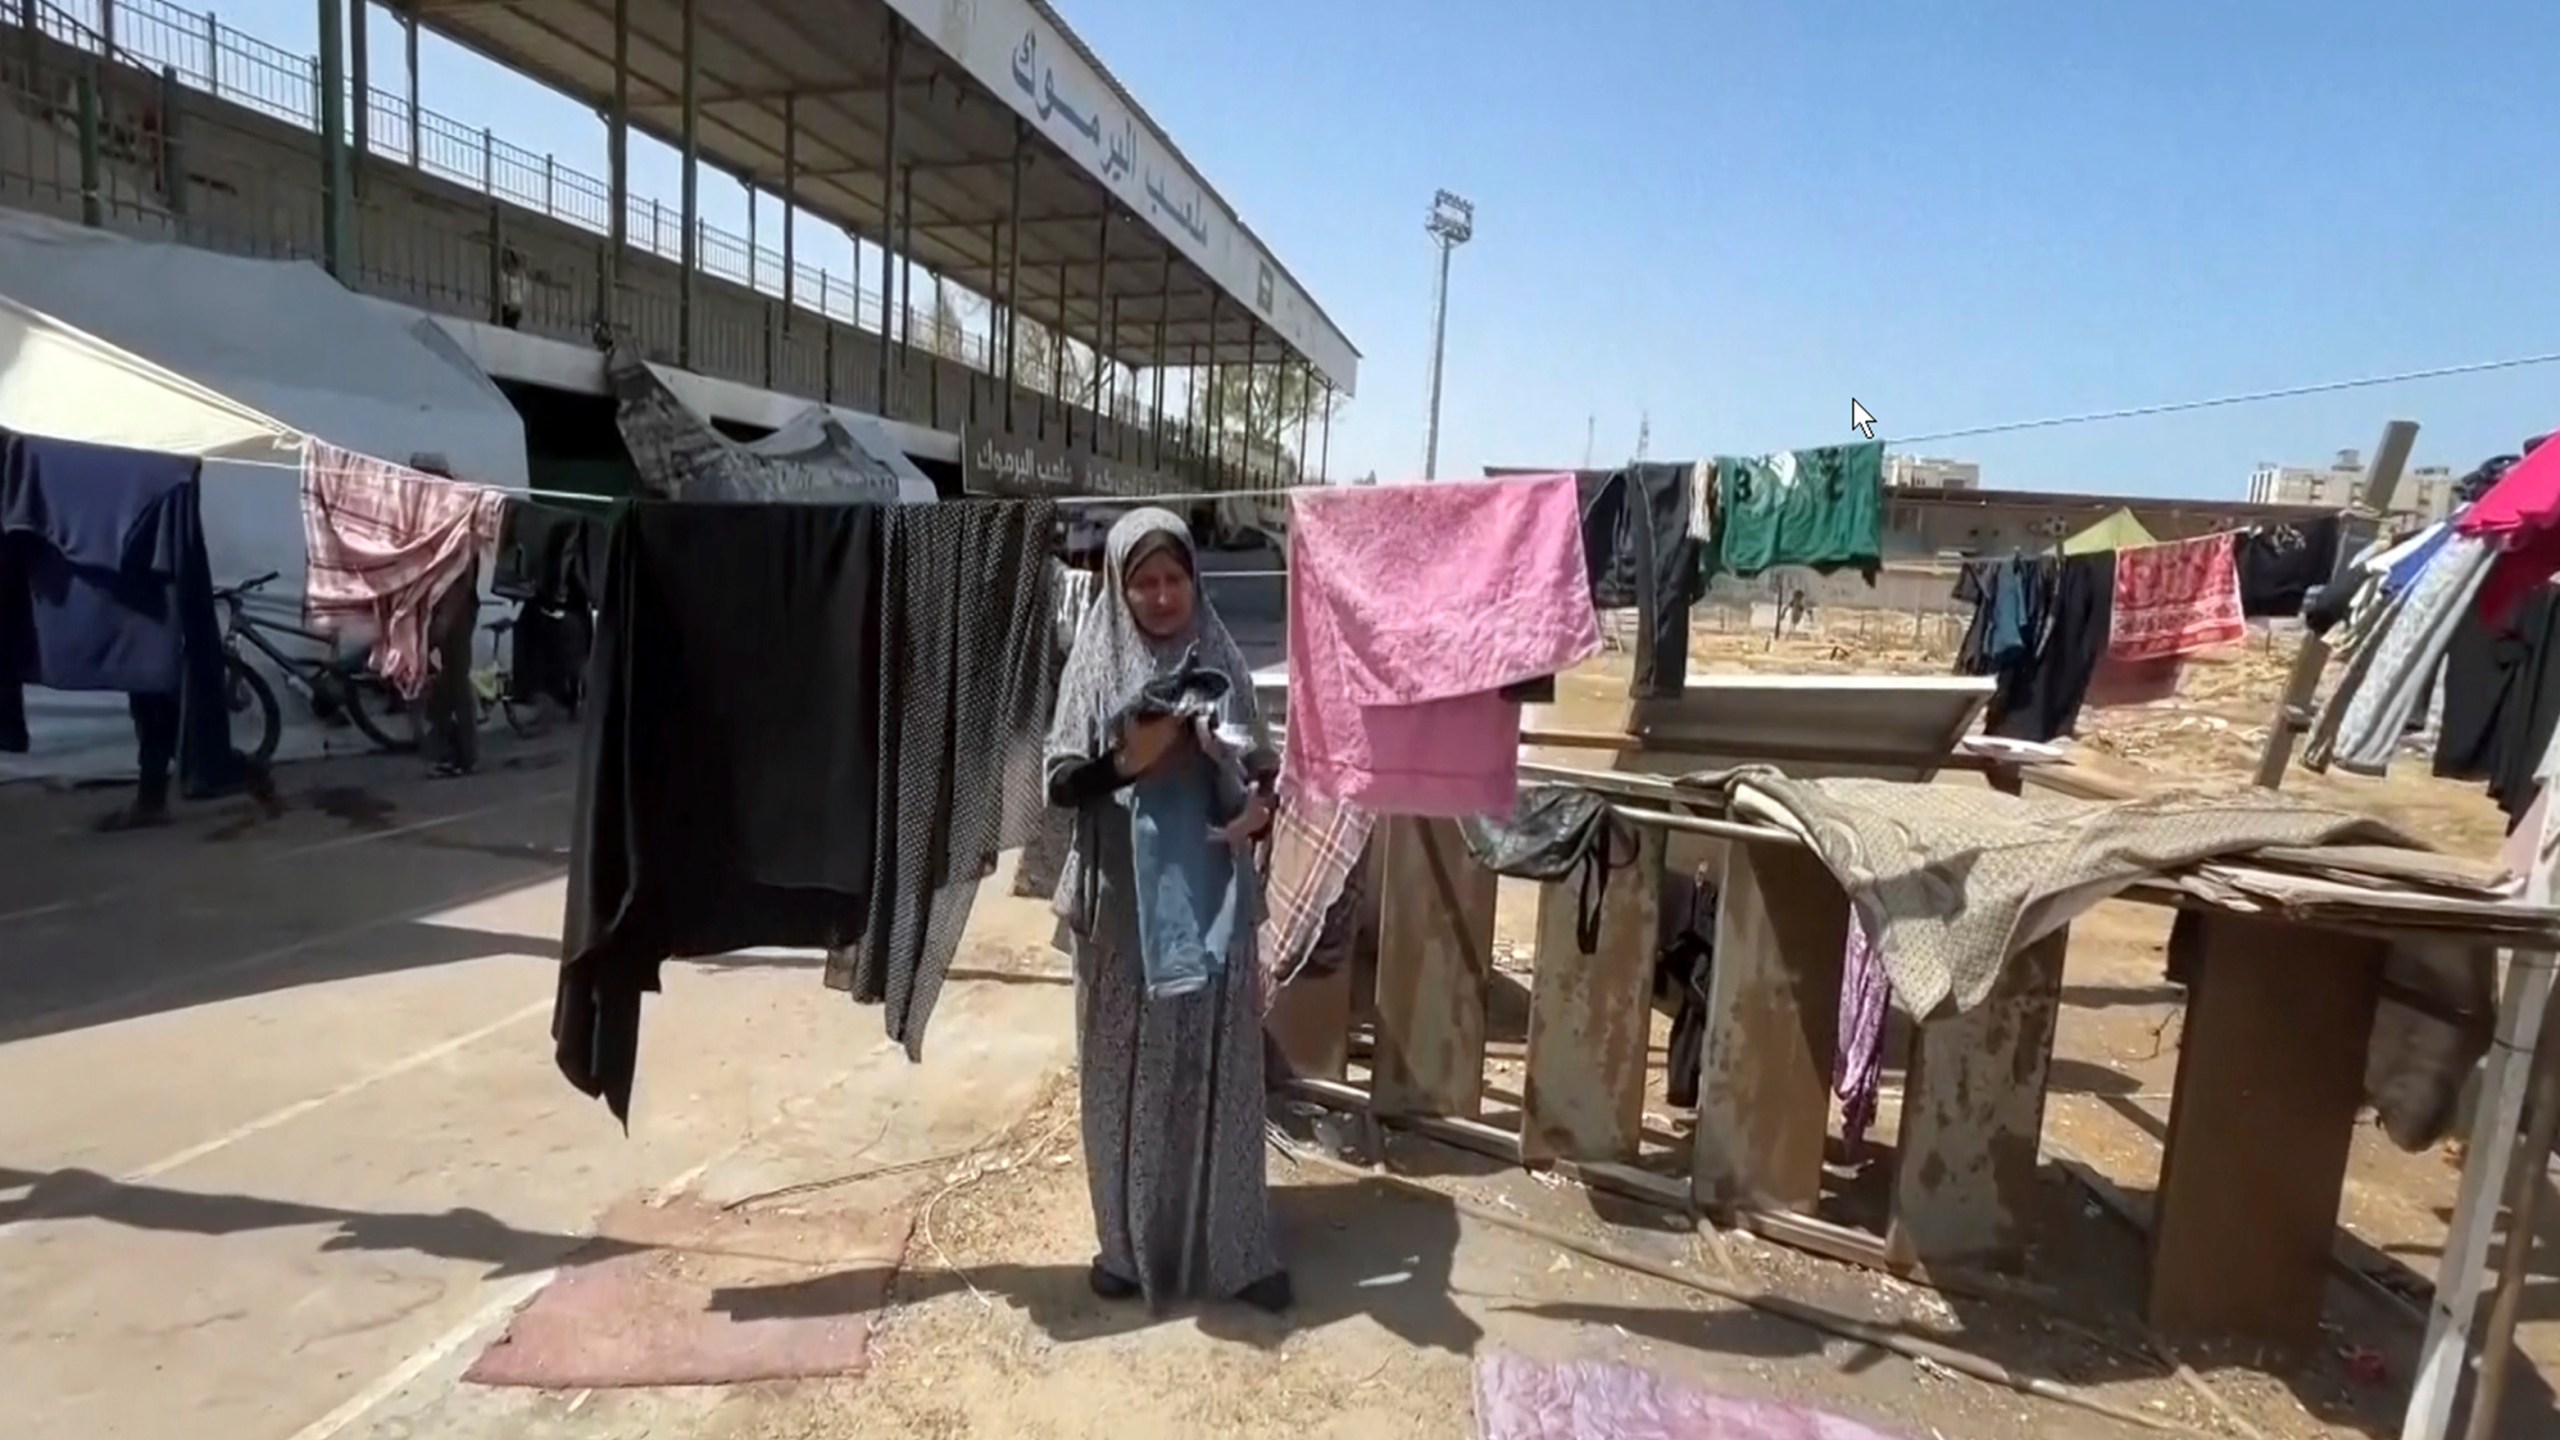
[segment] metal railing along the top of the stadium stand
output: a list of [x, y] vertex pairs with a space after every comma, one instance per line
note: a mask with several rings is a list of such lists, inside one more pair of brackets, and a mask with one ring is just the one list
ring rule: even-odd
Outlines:
[[[187, 10], [166, 0], [0, 0], [0, 26], [33, 28], [59, 46], [97, 54], [151, 74], [174, 77], [189, 90], [248, 108], [300, 131], [320, 133], [320, 59], [266, 44], [212, 13]], [[348, 113], [353, 105], [348, 85]], [[351, 136], [353, 141], [356, 136]], [[369, 156], [410, 164], [422, 174], [481, 192], [492, 200], [520, 205], [548, 220], [573, 225], [604, 238], [612, 231], [612, 187], [586, 172], [561, 164], [556, 156], [535, 154], [499, 138], [486, 126], [466, 126], [428, 110], [412, 95], [369, 87], [361, 110], [361, 146]], [[317, 184], [317, 177], [312, 179]], [[681, 210], [655, 197], [627, 197], [625, 241], [632, 251], [681, 264]], [[225, 249], [241, 249], [230, 243]], [[266, 249], [279, 249], [269, 243]], [[282, 246], [300, 254], [292, 246]], [[783, 297], [781, 254], [750, 243], [745, 236], [701, 223], [696, 231], [696, 272], [724, 279], [753, 295]], [[824, 266], [791, 266], [791, 307], [812, 318], [891, 331], [911, 336], [919, 354], [934, 354], [980, 374], [1001, 374], [1001, 354], [986, 328], [993, 323], [993, 302], [957, 282], [934, 282], [932, 272], [916, 266], [922, 295], [947, 297], [932, 310], [904, 305], [904, 325], [883, 323], [883, 295], [878, 287], [858, 287], [852, 279]], [[788, 328], [788, 325], [786, 325]], [[1024, 348], [1016, 356], [1016, 384], [1032, 395], [1050, 395], [1068, 405], [1093, 407], [1091, 374], [1068, 377], [1052, 384], [1047, 346], [1057, 338], [1032, 318], [1021, 318]], [[1034, 361], [1034, 356], [1042, 356]], [[753, 366], [740, 379], [755, 379]], [[1149, 415], [1134, 372], [1124, 372], [1108, 405], [1111, 420], [1121, 425], [1172, 423], [1180, 415]]]

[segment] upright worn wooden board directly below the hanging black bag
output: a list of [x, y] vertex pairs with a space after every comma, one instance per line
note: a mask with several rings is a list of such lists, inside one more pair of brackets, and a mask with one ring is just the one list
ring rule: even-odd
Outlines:
[[1582, 887], [1539, 889], [1528, 989], [1528, 1084], [1521, 1153], [1531, 1161], [1633, 1161], [1654, 1035], [1661, 938], [1661, 830], [1633, 830], [1633, 863], [1610, 871], [1595, 951], [1582, 953]]

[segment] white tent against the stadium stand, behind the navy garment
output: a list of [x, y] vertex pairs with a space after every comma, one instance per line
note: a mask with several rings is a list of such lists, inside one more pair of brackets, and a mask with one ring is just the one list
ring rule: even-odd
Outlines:
[[[0, 425], [202, 456], [215, 584], [279, 571], [259, 615], [302, 612], [294, 441], [525, 487], [525, 423], [435, 325], [300, 261], [161, 246], [0, 210]], [[486, 577], [484, 577], [486, 582]], [[356, 746], [292, 694], [284, 751]], [[33, 748], [0, 779], [131, 774], [123, 697], [28, 692]]]

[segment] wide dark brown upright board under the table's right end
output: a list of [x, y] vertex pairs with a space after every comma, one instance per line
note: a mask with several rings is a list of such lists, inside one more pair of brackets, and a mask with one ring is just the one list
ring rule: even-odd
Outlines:
[[2319, 1343], [2381, 940], [2199, 912], [2150, 1235], [2168, 1335]]

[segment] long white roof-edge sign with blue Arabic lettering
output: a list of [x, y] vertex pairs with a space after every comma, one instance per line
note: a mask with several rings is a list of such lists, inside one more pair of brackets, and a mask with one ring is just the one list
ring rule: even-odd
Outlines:
[[980, 85], [1001, 95], [1132, 213], [1190, 256], [1236, 305], [1262, 315], [1344, 395], [1359, 354], [1280, 264], [1029, 0], [888, 0]]

